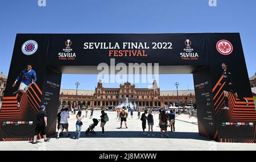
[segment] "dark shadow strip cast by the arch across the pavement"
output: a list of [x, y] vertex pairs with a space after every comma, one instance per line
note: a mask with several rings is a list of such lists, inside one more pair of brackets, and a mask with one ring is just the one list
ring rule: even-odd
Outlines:
[[[121, 129], [122, 130], [122, 129]], [[69, 132], [70, 136], [66, 136], [63, 132], [61, 138], [73, 138], [75, 132]], [[85, 132], [81, 132], [80, 138], [160, 138], [160, 132], [153, 132], [155, 136], [143, 135], [142, 131], [105, 131], [105, 135], [101, 135], [101, 131], [96, 131], [96, 134], [85, 135]], [[168, 132], [169, 138], [171, 139], [197, 139], [197, 140], [207, 140], [210, 139], [200, 136], [198, 132]], [[51, 138], [56, 138], [57, 135], [51, 136]], [[163, 138], [166, 138], [163, 135]]]

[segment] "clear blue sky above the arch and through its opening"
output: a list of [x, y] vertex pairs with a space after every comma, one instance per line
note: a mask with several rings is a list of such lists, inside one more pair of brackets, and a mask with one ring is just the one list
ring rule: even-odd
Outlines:
[[[9, 72], [16, 33], [180, 33], [240, 32], [249, 76], [256, 72], [256, 1], [217, 0], [34, 0], [1, 1], [0, 71]], [[95, 75], [63, 75], [61, 88], [94, 89]], [[193, 89], [192, 75], [160, 76], [161, 90]], [[137, 87], [147, 87], [136, 84]], [[104, 85], [118, 87], [119, 84]]]

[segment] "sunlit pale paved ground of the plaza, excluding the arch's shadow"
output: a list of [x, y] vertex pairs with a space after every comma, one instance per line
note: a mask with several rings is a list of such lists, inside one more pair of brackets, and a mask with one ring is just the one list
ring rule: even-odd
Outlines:
[[[188, 118], [188, 115], [176, 117], [175, 132], [170, 132], [169, 138], [160, 138], [160, 128], [158, 127], [158, 114], [154, 115], [154, 137], [142, 134], [141, 120], [138, 119], [137, 112], [134, 119], [127, 119], [127, 129], [123, 123], [123, 128], [119, 129], [120, 122], [116, 119], [114, 111], [106, 112], [109, 122], [105, 125], [105, 136], [101, 136], [100, 123], [96, 126], [96, 135], [85, 136], [85, 130], [92, 119], [88, 117], [82, 120], [82, 133], [78, 140], [72, 139], [75, 134], [76, 117], [71, 115], [69, 119], [70, 137], [56, 139], [56, 135], [51, 137], [49, 142], [40, 140], [38, 144], [30, 142], [0, 142], [0, 150], [88, 150], [88, 151], [171, 151], [171, 150], [256, 150], [256, 144], [247, 143], [218, 143], [211, 141], [198, 134], [197, 119]], [[142, 113], [141, 113], [142, 114]], [[82, 111], [85, 115], [85, 111]], [[100, 119], [100, 111], [94, 111], [93, 118]], [[64, 134], [65, 135], [65, 134]]]

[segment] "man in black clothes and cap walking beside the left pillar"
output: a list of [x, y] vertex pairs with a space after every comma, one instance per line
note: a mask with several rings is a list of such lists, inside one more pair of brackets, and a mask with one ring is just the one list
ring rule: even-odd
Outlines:
[[44, 138], [44, 142], [48, 142], [50, 139], [46, 138], [46, 127], [47, 127], [47, 113], [46, 113], [46, 106], [42, 105], [40, 107], [40, 111], [38, 114], [36, 114], [36, 128], [35, 128], [35, 134], [34, 134], [34, 141], [32, 144], [36, 144], [38, 134], [41, 132]]

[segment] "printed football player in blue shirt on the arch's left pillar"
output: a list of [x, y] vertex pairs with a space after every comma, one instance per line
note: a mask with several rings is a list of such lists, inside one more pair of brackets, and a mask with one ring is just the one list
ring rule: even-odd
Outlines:
[[20, 74], [16, 77], [16, 80], [13, 84], [13, 87], [15, 88], [16, 82], [20, 80], [20, 85], [19, 88], [16, 92], [13, 94], [16, 95], [18, 93], [18, 98], [17, 98], [17, 107], [19, 108], [19, 102], [20, 102], [20, 97], [26, 93], [26, 91], [31, 87], [34, 82], [36, 82], [36, 72], [32, 69], [31, 64], [27, 64], [26, 69], [22, 70]]

